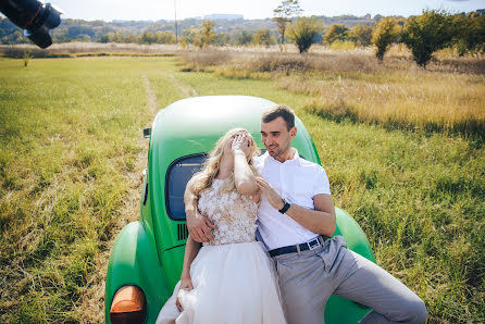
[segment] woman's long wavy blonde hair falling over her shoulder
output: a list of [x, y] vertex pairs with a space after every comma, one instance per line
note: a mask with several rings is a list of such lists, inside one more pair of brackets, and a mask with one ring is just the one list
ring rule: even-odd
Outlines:
[[[253, 157], [260, 153], [260, 150], [258, 146], [256, 145], [254, 139], [252, 138], [251, 134], [249, 134], [248, 130], [245, 128], [233, 128], [228, 130], [224, 136], [222, 136], [220, 139], [217, 139], [217, 142], [215, 144], [215, 147], [212, 151], [209, 152], [209, 157], [207, 158], [206, 162], [202, 165], [202, 170], [194, 175], [194, 178], [196, 178], [192, 187], [194, 194], [199, 198], [200, 194], [212, 186], [212, 183], [214, 182], [214, 178], [219, 174], [219, 169], [221, 167], [221, 161], [222, 157], [224, 155], [224, 147], [227, 144], [227, 141], [237, 133], [239, 132], [246, 132], [249, 135], [249, 141], [251, 144], [251, 151], [248, 154], [248, 164], [249, 167], [252, 170], [254, 174], [258, 174], [258, 171], [256, 170], [253, 165]], [[235, 188], [234, 184], [234, 172], [231, 175], [231, 178], [228, 182], [226, 182], [223, 186], [224, 191], [229, 191]]]

